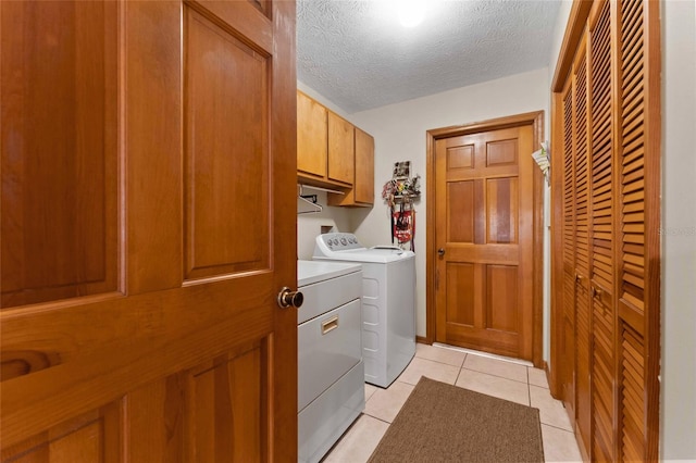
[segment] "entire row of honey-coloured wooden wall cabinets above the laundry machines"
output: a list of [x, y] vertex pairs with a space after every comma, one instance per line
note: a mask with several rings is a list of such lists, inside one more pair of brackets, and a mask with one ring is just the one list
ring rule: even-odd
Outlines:
[[374, 139], [301, 91], [297, 92], [299, 184], [344, 191], [330, 205], [374, 203]]

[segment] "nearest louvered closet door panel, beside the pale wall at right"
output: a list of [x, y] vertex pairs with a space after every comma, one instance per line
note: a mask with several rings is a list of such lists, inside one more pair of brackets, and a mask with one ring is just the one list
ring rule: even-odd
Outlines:
[[622, 1], [619, 47], [618, 458], [657, 458], [659, 5]]

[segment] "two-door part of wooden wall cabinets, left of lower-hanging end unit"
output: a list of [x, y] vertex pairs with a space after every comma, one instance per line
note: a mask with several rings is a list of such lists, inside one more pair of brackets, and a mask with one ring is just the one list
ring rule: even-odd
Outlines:
[[355, 176], [353, 126], [297, 92], [297, 176], [300, 183], [350, 188]]

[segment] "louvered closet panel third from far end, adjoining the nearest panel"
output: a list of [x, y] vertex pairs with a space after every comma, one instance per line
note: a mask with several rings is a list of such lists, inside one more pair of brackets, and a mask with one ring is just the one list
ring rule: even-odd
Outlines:
[[611, 116], [611, 8], [597, 4], [589, 32], [591, 113], [591, 293], [592, 293], [592, 456], [613, 460], [613, 207]]

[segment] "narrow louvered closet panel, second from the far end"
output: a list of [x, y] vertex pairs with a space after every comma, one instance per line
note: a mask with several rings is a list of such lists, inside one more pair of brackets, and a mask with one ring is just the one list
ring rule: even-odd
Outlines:
[[589, 179], [587, 137], [586, 42], [581, 41], [573, 77], [573, 148], [575, 161], [575, 420], [586, 450], [591, 441]]

